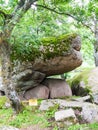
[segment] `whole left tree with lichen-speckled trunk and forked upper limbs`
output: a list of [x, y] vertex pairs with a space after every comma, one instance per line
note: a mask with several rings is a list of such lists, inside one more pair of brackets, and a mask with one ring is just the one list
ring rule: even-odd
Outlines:
[[[15, 86], [12, 80], [12, 63], [10, 59], [11, 45], [8, 43], [8, 39], [23, 15], [28, 11], [31, 5], [38, 0], [20, 0], [15, 9], [7, 14], [0, 9], [0, 16], [3, 18], [2, 31], [0, 32], [0, 54], [2, 64], [2, 75], [6, 95], [12, 101], [12, 105], [18, 112], [21, 110], [21, 103], [15, 91]], [[2, 1], [3, 4], [4, 1]], [[17, 2], [17, 1], [16, 1]]]

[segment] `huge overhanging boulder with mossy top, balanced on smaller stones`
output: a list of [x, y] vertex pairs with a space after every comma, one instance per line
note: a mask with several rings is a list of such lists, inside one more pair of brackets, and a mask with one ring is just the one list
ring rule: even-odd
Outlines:
[[[18, 69], [21, 72], [29, 68], [46, 76], [69, 72], [82, 63], [80, 49], [81, 40], [77, 34], [44, 38], [41, 39], [38, 50], [32, 49], [27, 60], [22, 59], [23, 61], [21, 60], [19, 64], [15, 62], [15, 70]], [[15, 57], [17, 57], [16, 54]], [[17, 58], [22, 58], [22, 55]]]

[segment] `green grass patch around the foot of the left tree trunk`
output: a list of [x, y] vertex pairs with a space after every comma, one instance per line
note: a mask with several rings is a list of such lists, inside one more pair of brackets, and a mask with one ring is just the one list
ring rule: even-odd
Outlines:
[[45, 118], [44, 113], [42, 114], [38, 110], [28, 108], [18, 115], [15, 115], [11, 108], [0, 109], [0, 125], [11, 125], [19, 128], [32, 124], [41, 124], [42, 127], [49, 126], [49, 122]]

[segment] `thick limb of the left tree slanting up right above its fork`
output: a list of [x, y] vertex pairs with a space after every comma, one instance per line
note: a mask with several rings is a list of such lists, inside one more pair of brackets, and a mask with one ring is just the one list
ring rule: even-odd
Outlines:
[[9, 37], [15, 25], [20, 21], [23, 15], [28, 11], [34, 2], [38, 0], [20, 0], [15, 10], [11, 14], [9, 22], [5, 26], [5, 36]]

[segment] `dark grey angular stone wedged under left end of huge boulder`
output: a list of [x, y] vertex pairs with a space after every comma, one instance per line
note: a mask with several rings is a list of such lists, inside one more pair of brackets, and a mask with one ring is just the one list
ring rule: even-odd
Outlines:
[[[30, 71], [30, 72], [29, 72]], [[28, 90], [37, 87], [45, 78], [45, 74], [38, 71], [24, 71], [17, 76], [17, 91]], [[16, 79], [15, 79], [16, 80]]]

